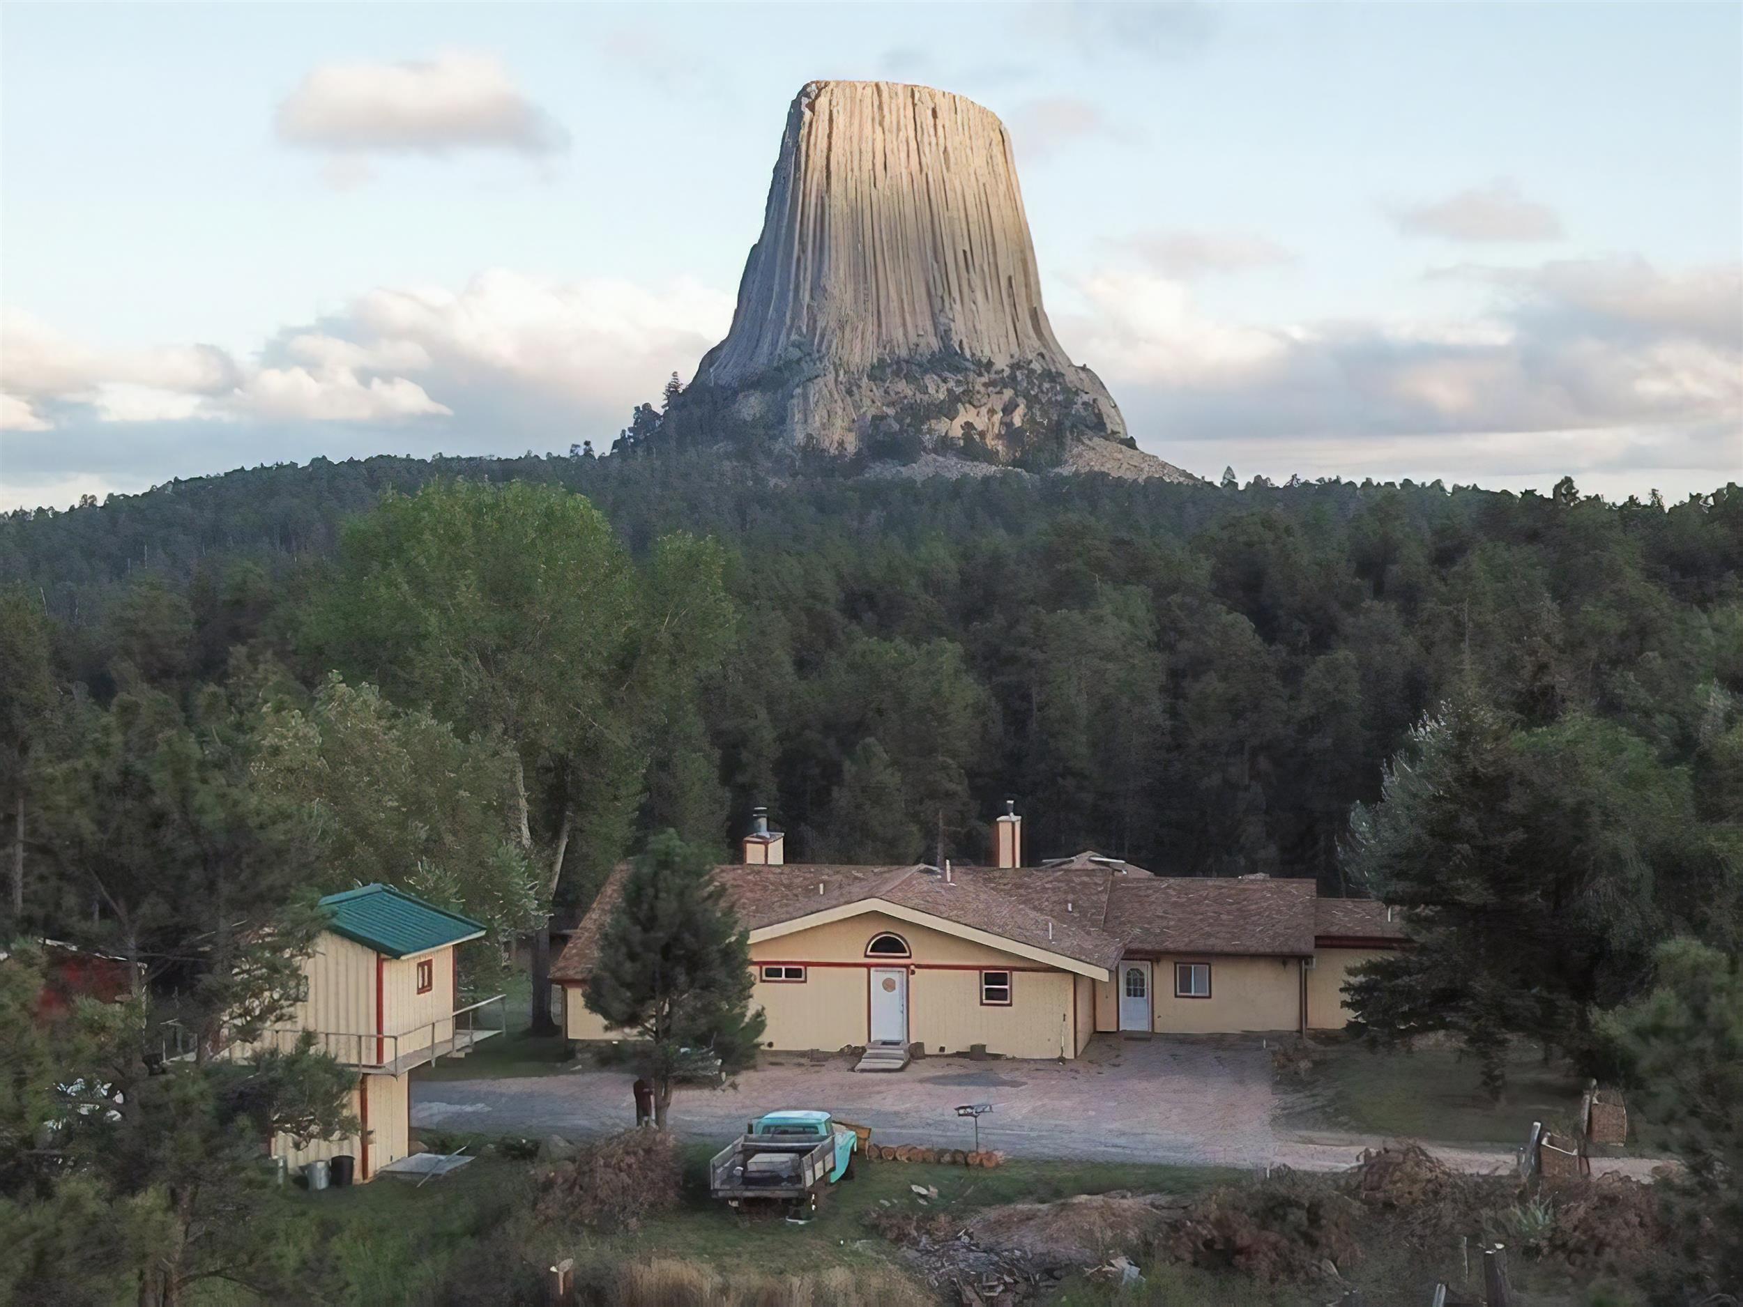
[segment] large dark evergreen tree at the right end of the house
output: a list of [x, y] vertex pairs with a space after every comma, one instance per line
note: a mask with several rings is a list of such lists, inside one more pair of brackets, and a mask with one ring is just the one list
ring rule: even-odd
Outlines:
[[1471, 688], [1351, 826], [1351, 880], [1412, 938], [1358, 972], [1358, 1023], [1382, 1042], [1452, 1032], [1494, 1094], [1511, 1037], [1590, 1061], [1593, 1011], [1637, 993], [1666, 920], [1706, 925], [1703, 903], [1734, 894], [1682, 769], [1607, 723], [1515, 734]]

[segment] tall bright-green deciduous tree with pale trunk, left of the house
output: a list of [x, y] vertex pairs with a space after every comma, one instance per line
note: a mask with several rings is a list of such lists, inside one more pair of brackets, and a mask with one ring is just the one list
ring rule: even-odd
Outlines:
[[[638, 570], [579, 495], [443, 483], [347, 530], [310, 638], [349, 676], [507, 741], [549, 903], [572, 840], [596, 873], [627, 847], [648, 741], [730, 627], [720, 575], [718, 549], [683, 535]], [[528, 925], [533, 1025], [553, 1030], [547, 936]]]

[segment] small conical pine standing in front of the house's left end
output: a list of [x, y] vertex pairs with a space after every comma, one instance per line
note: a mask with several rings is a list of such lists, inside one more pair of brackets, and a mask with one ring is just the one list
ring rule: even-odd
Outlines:
[[587, 1011], [640, 1040], [661, 1129], [673, 1084], [697, 1056], [734, 1075], [751, 1065], [763, 1032], [763, 1014], [749, 1011], [748, 936], [709, 870], [673, 831], [655, 835], [624, 878], [587, 979]]

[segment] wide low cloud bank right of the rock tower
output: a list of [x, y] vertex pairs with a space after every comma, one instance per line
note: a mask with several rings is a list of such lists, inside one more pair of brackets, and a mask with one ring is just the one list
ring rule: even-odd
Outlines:
[[1473, 319], [1243, 326], [1178, 281], [1103, 272], [1060, 326], [1138, 439], [1187, 467], [1182, 446], [1232, 443], [1285, 474], [1391, 460], [1492, 484], [1556, 464], [1717, 484], [1743, 467], [1743, 338], [1720, 312], [1740, 274], [1548, 263], [1483, 270], [1497, 295]]

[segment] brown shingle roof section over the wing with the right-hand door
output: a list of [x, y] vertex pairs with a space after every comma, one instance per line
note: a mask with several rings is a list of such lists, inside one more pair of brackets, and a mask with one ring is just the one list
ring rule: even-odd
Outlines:
[[1109, 887], [1107, 931], [1138, 953], [1312, 953], [1314, 882], [1152, 877]]

